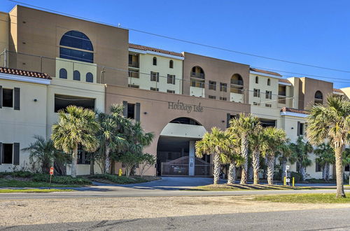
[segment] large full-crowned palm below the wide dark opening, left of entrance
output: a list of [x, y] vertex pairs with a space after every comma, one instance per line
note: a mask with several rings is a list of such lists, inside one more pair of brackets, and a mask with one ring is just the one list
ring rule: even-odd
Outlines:
[[95, 133], [99, 130], [99, 124], [94, 111], [90, 109], [70, 105], [58, 113], [58, 123], [52, 125], [51, 139], [55, 148], [72, 154], [71, 176], [76, 177], [78, 146], [87, 152], [97, 149]]

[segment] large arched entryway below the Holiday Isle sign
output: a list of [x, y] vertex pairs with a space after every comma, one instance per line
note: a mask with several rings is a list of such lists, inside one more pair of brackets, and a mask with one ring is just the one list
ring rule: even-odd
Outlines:
[[187, 117], [170, 121], [162, 130], [157, 145], [158, 176], [211, 176], [210, 156], [195, 157], [195, 141], [207, 132], [196, 120]]

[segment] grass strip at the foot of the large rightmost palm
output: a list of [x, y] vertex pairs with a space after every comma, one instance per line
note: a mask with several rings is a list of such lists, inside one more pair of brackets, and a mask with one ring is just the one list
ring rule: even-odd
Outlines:
[[267, 195], [258, 196], [253, 200], [268, 202], [289, 202], [289, 203], [350, 203], [350, 197], [335, 198], [335, 193], [313, 193], [298, 195]]

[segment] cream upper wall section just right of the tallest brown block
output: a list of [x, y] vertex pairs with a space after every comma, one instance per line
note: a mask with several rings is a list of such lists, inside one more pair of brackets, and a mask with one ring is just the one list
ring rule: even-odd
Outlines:
[[[153, 57], [157, 58], [157, 65], [153, 65]], [[173, 60], [174, 68], [169, 68], [169, 61]], [[174, 90], [176, 94], [182, 93], [183, 60], [164, 57], [162, 55], [139, 54], [139, 77], [130, 78], [128, 84], [139, 85], [140, 89], [150, 90], [159, 88], [160, 92]], [[159, 73], [159, 82], [151, 81], [151, 71]], [[167, 75], [175, 75], [175, 84], [167, 83]]]

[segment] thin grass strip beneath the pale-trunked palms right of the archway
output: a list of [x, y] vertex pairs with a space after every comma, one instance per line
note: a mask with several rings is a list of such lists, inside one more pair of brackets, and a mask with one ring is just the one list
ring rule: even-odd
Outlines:
[[269, 185], [208, 185], [208, 186], [197, 186], [187, 190], [194, 191], [237, 191], [237, 190], [301, 190], [301, 189], [313, 189], [311, 187], [290, 187], [290, 186], [269, 186]]

